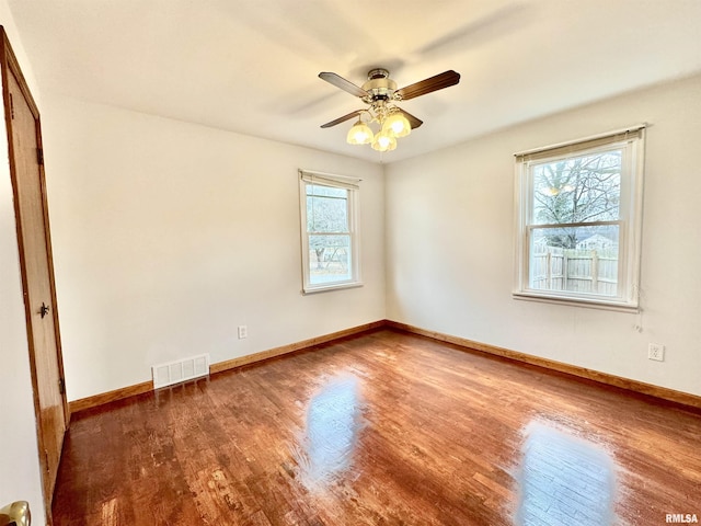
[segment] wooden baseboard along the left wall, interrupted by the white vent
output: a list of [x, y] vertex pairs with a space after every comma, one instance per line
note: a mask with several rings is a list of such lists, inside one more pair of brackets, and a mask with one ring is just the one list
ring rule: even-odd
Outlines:
[[[386, 323], [387, 323], [386, 320], [372, 321], [370, 323], [364, 323], [361, 325], [353, 327], [350, 329], [344, 329], [343, 331], [332, 332], [330, 334], [323, 334], [321, 336], [311, 338], [309, 340], [303, 340], [301, 342], [292, 343], [289, 345], [283, 345], [280, 347], [269, 348], [261, 353], [249, 354], [246, 356], [228, 359], [226, 362], [217, 362], [216, 364], [209, 365], [209, 374], [214, 375], [217, 373], [222, 373], [225, 370], [234, 369], [237, 367], [243, 367], [244, 365], [251, 365], [257, 362], [263, 362], [265, 359], [283, 356], [285, 354], [303, 351], [306, 348], [313, 347], [314, 345], [321, 345], [323, 343], [333, 342], [336, 340], [341, 340], [342, 338], [359, 334], [361, 332], [372, 331], [375, 329], [381, 329], [386, 325]], [[80, 411], [85, 411], [88, 409], [104, 405], [105, 403], [115, 402], [124, 398], [134, 397], [136, 395], [141, 395], [143, 392], [149, 392], [152, 390], [153, 390], [153, 381], [149, 380], [142, 384], [137, 384], [135, 386], [123, 387], [122, 389], [115, 389], [114, 391], [102, 392], [100, 395], [94, 395], [92, 397], [85, 397], [79, 400], [73, 400], [72, 402], [68, 402], [68, 410], [72, 415]]]

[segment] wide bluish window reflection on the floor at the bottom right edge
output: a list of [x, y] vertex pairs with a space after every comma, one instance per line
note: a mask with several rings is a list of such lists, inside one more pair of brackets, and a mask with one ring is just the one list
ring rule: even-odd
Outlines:
[[525, 435], [516, 524], [613, 524], [616, 467], [608, 453], [540, 422], [531, 422]]

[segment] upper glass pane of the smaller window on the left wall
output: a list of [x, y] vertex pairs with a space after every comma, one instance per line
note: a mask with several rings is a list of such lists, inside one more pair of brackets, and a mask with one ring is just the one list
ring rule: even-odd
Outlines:
[[347, 232], [348, 191], [307, 185], [307, 231]]

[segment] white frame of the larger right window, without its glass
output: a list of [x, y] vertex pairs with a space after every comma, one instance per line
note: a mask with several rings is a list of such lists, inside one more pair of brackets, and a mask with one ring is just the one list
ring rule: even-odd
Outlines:
[[[584, 307], [636, 312], [640, 308], [640, 259], [642, 239], [643, 171], [645, 125], [640, 124], [584, 139], [515, 153], [516, 160], [516, 248], [513, 297]], [[621, 195], [619, 226], [618, 295], [614, 297], [567, 290], [530, 288], [530, 232], [543, 225], [531, 222], [533, 165], [587, 153], [621, 149]], [[563, 224], [564, 225], [564, 224]], [[568, 226], [597, 225], [567, 224]], [[548, 227], [548, 226], [545, 226]]]

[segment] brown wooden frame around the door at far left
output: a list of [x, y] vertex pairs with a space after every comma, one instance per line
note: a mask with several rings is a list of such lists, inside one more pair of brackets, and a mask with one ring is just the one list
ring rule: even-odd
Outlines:
[[[18, 170], [16, 170], [16, 161], [14, 157], [14, 146], [12, 141], [13, 137], [13, 127], [12, 127], [12, 106], [10, 100], [10, 91], [9, 91], [9, 80], [8, 76], [13, 75], [16, 79], [22, 94], [32, 111], [32, 115], [34, 116], [35, 126], [36, 126], [36, 144], [39, 149], [39, 152], [43, 152], [42, 145], [42, 126], [39, 119], [39, 112], [30, 92], [30, 88], [26, 83], [24, 76], [22, 75], [22, 70], [20, 69], [20, 64], [12, 50], [12, 46], [10, 45], [10, 41], [8, 39], [7, 32], [4, 27], [0, 25], [0, 71], [2, 75], [2, 100], [4, 105], [4, 121], [5, 121], [5, 130], [8, 136], [8, 151], [9, 151], [9, 160], [10, 160], [10, 179], [12, 180], [12, 193], [14, 201], [14, 216], [15, 216], [15, 226], [16, 226], [16, 236], [18, 236], [18, 247], [20, 253], [20, 268], [22, 274], [22, 291], [24, 296], [24, 316], [26, 320], [26, 331], [27, 331], [27, 345], [30, 353], [30, 368], [32, 376], [32, 390], [34, 398], [34, 411], [36, 415], [36, 431], [37, 431], [37, 442], [38, 442], [38, 461], [39, 467], [42, 469], [42, 485], [43, 485], [43, 494], [44, 494], [44, 505], [46, 507], [46, 516], [50, 524], [51, 517], [51, 501], [53, 494], [47, 494], [48, 487], [47, 485], [47, 461], [42, 451], [45, 450], [44, 439], [42, 434], [42, 420], [39, 419], [39, 398], [38, 398], [38, 386], [37, 386], [37, 374], [36, 374], [36, 354], [34, 348], [34, 339], [33, 336], [33, 322], [34, 316], [31, 310], [31, 306], [27, 301], [27, 273], [26, 273], [26, 258], [25, 258], [25, 248], [22, 236], [22, 225], [20, 221], [20, 199], [18, 193]], [[38, 153], [43, 157], [43, 153]], [[57, 352], [57, 363], [58, 363], [58, 374], [61, 380], [65, 378], [64, 375], [64, 356], [62, 356], [62, 347], [60, 340], [60, 330], [58, 324], [58, 301], [56, 298], [56, 281], [54, 276], [54, 255], [51, 252], [51, 237], [50, 237], [50, 228], [49, 228], [49, 219], [48, 219], [48, 202], [46, 197], [46, 174], [44, 171], [44, 162], [43, 160], [38, 163], [38, 172], [39, 172], [39, 184], [42, 188], [42, 208], [44, 215], [44, 231], [46, 235], [46, 253], [48, 258], [48, 278], [50, 286], [50, 301], [51, 301], [51, 310], [50, 313], [54, 317], [54, 332], [56, 336], [56, 352]], [[70, 423], [70, 410], [68, 405], [68, 399], [66, 396], [65, 387], [60, 389], [61, 400], [62, 400], [62, 415], [64, 415], [64, 426], [68, 430], [68, 425]], [[60, 451], [59, 451], [59, 465], [60, 465]]]

